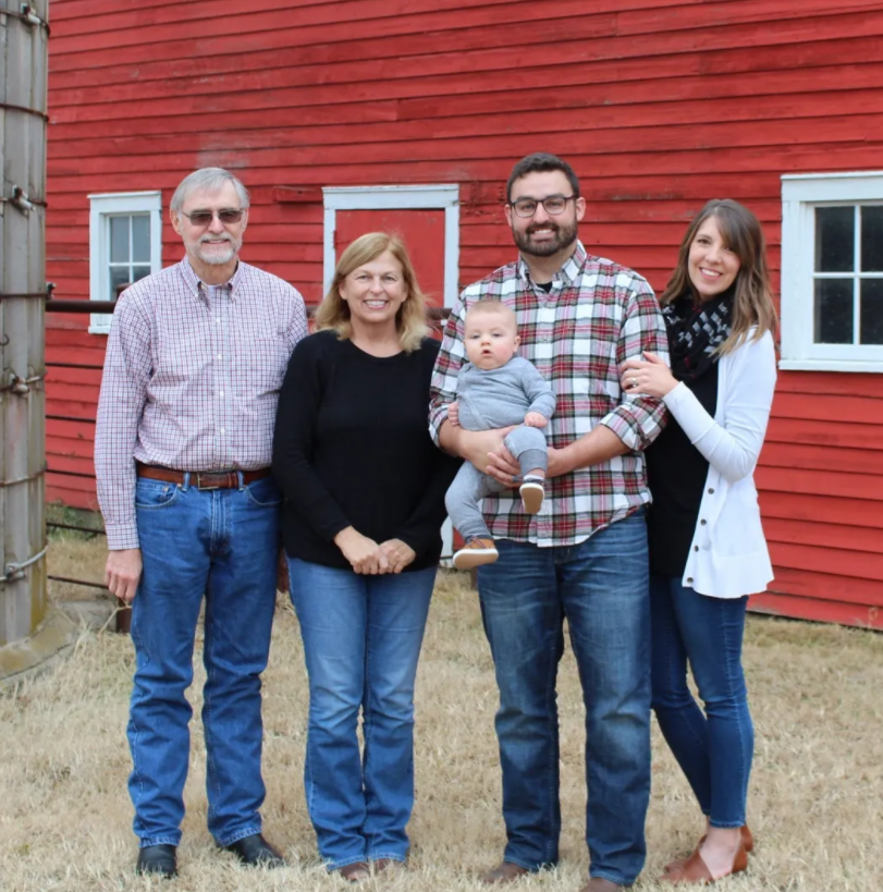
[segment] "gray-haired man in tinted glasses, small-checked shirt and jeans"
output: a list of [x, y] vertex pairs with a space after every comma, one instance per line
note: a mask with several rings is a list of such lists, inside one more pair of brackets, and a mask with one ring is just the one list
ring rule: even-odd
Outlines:
[[248, 192], [233, 174], [186, 176], [171, 220], [186, 257], [121, 295], [95, 439], [106, 582], [133, 606], [136, 869], [167, 877], [184, 817], [184, 692], [204, 598], [209, 831], [245, 864], [284, 864], [258, 811], [260, 674], [279, 553], [273, 420], [289, 356], [307, 333], [297, 291], [238, 259]]

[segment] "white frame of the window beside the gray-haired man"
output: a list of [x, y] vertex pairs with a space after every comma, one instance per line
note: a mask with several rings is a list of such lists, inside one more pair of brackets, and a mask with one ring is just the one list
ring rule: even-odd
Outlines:
[[[108, 289], [110, 218], [114, 215], [150, 215], [150, 272], [162, 269], [162, 193], [109, 192], [89, 195], [89, 300], [112, 301]], [[89, 332], [110, 332], [110, 313], [93, 313]]]

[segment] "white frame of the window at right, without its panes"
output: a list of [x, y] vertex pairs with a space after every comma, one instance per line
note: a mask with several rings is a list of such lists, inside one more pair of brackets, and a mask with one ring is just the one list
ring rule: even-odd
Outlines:
[[[815, 208], [883, 204], [883, 171], [782, 178], [783, 369], [883, 371], [883, 345], [813, 343]], [[869, 276], [869, 273], [863, 273]], [[883, 278], [883, 273], [870, 273]]]

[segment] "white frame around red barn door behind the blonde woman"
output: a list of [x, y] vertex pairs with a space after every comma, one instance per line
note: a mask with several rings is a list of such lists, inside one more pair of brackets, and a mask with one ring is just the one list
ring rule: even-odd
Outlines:
[[444, 306], [451, 307], [459, 294], [459, 186], [457, 184], [408, 186], [326, 186], [323, 291], [334, 278], [338, 258], [334, 231], [339, 210], [408, 210], [426, 208], [444, 211]]

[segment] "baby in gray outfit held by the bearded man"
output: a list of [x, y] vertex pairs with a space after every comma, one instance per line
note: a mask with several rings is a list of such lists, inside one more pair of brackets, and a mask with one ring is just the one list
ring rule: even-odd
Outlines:
[[[500, 301], [479, 301], [466, 313], [465, 346], [468, 363], [457, 376], [457, 401], [449, 420], [466, 430], [520, 425], [505, 440], [520, 466], [522, 504], [536, 514], [543, 500], [549, 465], [545, 427], [555, 411], [552, 388], [527, 359], [516, 356], [520, 343], [513, 310]], [[493, 563], [499, 557], [479, 502], [506, 487], [464, 462], [444, 502], [465, 546], [454, 554], [457, 570]]]

